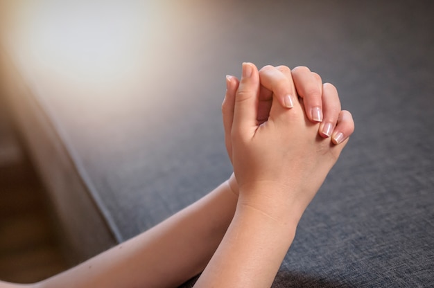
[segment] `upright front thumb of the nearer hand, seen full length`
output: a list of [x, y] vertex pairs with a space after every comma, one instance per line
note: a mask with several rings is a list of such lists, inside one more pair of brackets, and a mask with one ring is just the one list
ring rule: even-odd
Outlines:
[[259, 72], [252, 63], [243, 63], [238, 91], [235, 95], [232, 136], [252, 137], [257, 129]]

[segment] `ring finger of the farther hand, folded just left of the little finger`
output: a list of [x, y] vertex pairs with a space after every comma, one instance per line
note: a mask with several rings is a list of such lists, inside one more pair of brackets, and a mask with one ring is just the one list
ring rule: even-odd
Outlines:
[[330, 137], [335, 128], [340, 114], [340, 100], [338, 90], [333, 84], [324, 83], [322, 85], [322, 111], [324, 117], [320, 124], [320, 135], [324, 138]]

